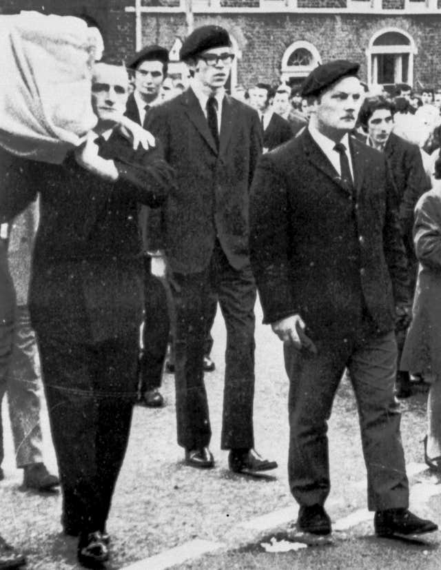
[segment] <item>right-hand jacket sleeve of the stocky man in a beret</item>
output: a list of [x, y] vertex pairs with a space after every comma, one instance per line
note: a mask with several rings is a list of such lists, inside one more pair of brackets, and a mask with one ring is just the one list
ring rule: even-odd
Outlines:
[[409, 303], [409, 272], [398, 218], [397, 192], [389, 167], [385, 165], [385, 215], [383, 249], [391, 276], [393, 298], [397, 304]]

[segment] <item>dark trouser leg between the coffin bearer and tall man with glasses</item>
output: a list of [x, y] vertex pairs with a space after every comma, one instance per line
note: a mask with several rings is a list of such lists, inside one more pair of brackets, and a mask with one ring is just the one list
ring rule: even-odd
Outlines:
[[150, 256], [145, 256], [143, 350], [139, 359], [141, 394], [161, 386], [171, 321], [167, 285], [152, 275], [151, 261]]

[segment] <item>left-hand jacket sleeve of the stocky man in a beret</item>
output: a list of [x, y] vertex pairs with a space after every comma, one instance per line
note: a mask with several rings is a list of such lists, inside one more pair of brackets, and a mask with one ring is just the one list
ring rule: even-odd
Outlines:
[[270, 155], [261, 157], [250, 199], [250, 257], [263, 322], [274, 323], [298, 312], [289, 276], [290, 224], [287, 185]]

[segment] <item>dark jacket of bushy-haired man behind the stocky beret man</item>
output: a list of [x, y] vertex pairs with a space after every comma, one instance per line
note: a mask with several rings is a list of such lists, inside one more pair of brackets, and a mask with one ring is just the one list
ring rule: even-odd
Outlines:
[[417, 145], [404, 141], [391, 133], [384, 146], [384, 153], [391, 167], [393, 182], [398, 192], [400, 222], [404, 245], [413, 252], [413, 210], [418, 199], [430, 189], [421, 152]]

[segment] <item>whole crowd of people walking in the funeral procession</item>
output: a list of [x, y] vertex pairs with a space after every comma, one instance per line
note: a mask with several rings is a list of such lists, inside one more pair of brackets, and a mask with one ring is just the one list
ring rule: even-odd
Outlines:
[[[358, 63], [336, 60], [301, 88], [237, 85], [231, 96], [220, 26], [196, 28], [181, 59], [187, 88], [161, 45], [126, 67], [96, 62], [98, 122], [63, 163], [1, 150], [0, 396], [23, 484], [61, 485], [64, 533], [79, 537], [83, 566], [103, 567], [132, 408], [165, 405], [164, 369], [185, 464], [214, 467], [204, 374], [217, 305], [220, 447], [235, 473], [275, 469], [254, 442], [258, 291], [284, 343], [299, 529], [331, 533], [327, 420], [347, 369], [376, 533], [436, 530], [408, 509], [396, 394], [430, 384], [424, 458], [439, 471], [441, 90], [368, 92]], [[41, 456], [40, 383], [59, 479]], [[5, 568], [24, 562], [6, 543], [0, 556]]]

